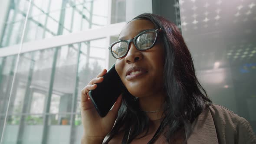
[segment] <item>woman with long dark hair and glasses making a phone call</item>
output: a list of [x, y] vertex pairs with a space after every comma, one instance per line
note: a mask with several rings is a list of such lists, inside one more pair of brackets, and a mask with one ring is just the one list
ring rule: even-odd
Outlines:
[[141, 14], [125, 25], [109, 48], [129, 94], [123, 93], [101, 118], [88, 92], [103, 81], [106, 70], [85, 86], [81, 96], [82, 143], [102, 144], [104, 139], [108, 144], [256, 141], [248, 121], [211, 104], [197, 80], [184, 39], [170, 21]]

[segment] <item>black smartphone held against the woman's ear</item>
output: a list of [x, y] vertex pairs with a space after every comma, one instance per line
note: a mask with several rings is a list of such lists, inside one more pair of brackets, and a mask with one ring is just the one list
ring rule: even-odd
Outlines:
[[89, 97], [92, 100], [98, 114], [105, 117], [112, 108], [118, 96], [125, 90], [124, 85], [115, 70], [115, 64], [103, 76], [103, 81], [96, 84], [94, 90], [89, 91]]

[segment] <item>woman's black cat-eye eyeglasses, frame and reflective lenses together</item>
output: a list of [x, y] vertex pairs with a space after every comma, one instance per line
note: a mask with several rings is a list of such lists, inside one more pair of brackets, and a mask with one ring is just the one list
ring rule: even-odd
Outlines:
[[156, 43], [158, 33], [160, 31], [161, 29], [145, 30], [139, 33], [133, 39], [118, 40], [115, 43], [112, 43], [110, 46], [108, 46], [108, 49], [110, 50], [112, 56], [114, 56], [116, 59], [120, 59], [128, 53], [131, 42], [133, 42], [135, 47], [140, 51], [151, 49]]

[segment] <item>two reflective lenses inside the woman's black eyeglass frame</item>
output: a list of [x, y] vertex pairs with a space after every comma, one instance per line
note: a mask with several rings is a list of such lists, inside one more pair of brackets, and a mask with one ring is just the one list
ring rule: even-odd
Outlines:
[[[156, 36], [157, 33], [155, 32], [143, 33], [135, 39], [135, 46], [139, 50], [149, 49], [151, 46], [153, 46]], [[119, 43], [115, 43], [115, 45], [112, 46], [111, 51], [116, 58], [124, 56], [128, 51], [128, 42], [121, 41]]]

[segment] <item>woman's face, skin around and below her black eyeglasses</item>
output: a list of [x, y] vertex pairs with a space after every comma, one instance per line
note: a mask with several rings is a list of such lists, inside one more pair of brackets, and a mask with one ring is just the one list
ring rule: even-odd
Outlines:
[[[133, 20], [125, 25], [118, 40], [133, 39], [138, 33], [154, 28], [151, 21]], [[159, 38], [154, 47], [145, 51], [136, 49], [131, 42], [127, 55], [116, 60], [118, 75], [135, 97], [159, 95], [163, 92], [164, 47]]]

